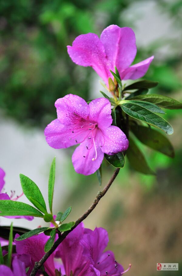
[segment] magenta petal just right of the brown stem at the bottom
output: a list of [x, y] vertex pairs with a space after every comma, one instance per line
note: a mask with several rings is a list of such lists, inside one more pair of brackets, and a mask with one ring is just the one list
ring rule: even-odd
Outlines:
[[86, 263], [86, 257], [83, 256], [83, 247], [79, 244], [83, 231], [83, 223], [80, 223], [68, 234], [56, 250], [56, 258], [62, 259], [66, 275], [70, 275], [71, 270], [73, 275], [79, 274]]

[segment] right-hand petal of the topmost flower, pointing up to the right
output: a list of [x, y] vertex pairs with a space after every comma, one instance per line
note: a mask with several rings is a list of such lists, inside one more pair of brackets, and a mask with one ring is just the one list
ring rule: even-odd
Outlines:
[[124, 70], [121, 74], [121, 79], [122, 80], [136, 80], [141, 77], [143, 77], [146, 73], [147, 70], [150, 66], [150, 63], [152, 62], [154, 56], [149, 57], [146, 60], [143, 60], [139, 63], [136, 63], [126, 70]]

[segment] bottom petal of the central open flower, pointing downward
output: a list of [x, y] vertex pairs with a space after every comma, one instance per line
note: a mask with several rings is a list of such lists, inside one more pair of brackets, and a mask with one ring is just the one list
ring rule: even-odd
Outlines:
[[[100, 149], [99, 138], [100, 134], [99, 131], [97, 131], [94, 138], [97, 150], [96, 160], [92, 161], [92, 159], [96, 157], [93, 138], [87, 138], [86, 141], [81, 143], [73, 152], [72, 163], [77, 173], [90, 175], [99, 169], [104, 158], [104, 153]], [[86, 147], [88, 147], [89, 149], [87, 149]]]

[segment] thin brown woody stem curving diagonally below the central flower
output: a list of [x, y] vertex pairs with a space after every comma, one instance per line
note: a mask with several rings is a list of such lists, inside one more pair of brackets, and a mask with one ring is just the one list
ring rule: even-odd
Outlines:
[[76, 228], [79, 223], [81, 223], [83, 220], [86, 219], [86, 217], [95, 209], [95, 207], [97, 206], [97, 204], [99, 203], [99, 200], [107, 193], [108, 189], [110, 188], [111, 184], [113, 183], [114, 179], [116, 178], [116, 176], [118, 175], [120, 171], [120, 168], [116, 168], [113, 175], [111, 176], [109, 182], [106, 184], [106, 186], [104, 187], [102, 192], [99, 192], [96, 196], [96, 199], [94, 200], [94, 202], [92, 203], [92, 205], [90, 206], [90, 208], [75, 222], [75, 225], [72, 227], [71, 230], [63, 232], [61, 235], [59, 234], [58, 239], [56, 240], [56, 242], [54, 243], [54, 245], [52, 246], [52, 248], [45, 253], [45, 255], [42, 257], [42, 259], [35, 263], [34, 268], [32, 269], [32, 272], [30, 274], [30, 276], [35, 276], [35, 274], [37, 273], [37, 271], [40, 269], [40, 267], [45, 263], [45, 261], [49, 258], [49, 256], [54, 252], [54, 250], [56, 250], [56, 248], [59, 246], [59, 244], [66, 238], [66, 236], [74, 229]]

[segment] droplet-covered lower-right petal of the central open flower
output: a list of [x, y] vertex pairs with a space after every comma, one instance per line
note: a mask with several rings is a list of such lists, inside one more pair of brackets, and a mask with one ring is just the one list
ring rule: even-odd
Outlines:
[[120, 128], [111, 125], [109, 128], [102, 130], [104, 143], [101, 150], [109, 155], [122, 152], [128, 148], [129, 141]]

